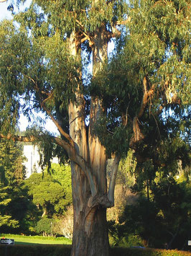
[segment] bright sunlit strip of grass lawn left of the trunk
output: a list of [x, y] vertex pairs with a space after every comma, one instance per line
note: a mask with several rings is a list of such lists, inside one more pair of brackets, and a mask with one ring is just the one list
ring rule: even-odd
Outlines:
[[72, 244], [65, 237], [22, 236], [17, 234], [0, 234], [0, 238], [14, 239], [14, 244]]

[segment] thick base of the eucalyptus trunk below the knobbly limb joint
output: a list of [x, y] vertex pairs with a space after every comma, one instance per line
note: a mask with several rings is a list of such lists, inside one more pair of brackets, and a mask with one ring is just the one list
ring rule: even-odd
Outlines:
[[73, 256], [108, 256], [108, 229], [106, 209], [94, 207], [80, 213], [78, 222], [74, 224]]

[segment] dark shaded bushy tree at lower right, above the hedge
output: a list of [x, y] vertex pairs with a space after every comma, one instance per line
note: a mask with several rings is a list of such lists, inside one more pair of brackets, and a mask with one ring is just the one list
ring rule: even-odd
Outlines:
[[182, 248], [190, 230], [190, 185], [169, 177], [153, 183], [150, 193], [150, 200], [140, 196], [126, 206], [120, 220], [126, 234], [140, 236], [149, 247]]

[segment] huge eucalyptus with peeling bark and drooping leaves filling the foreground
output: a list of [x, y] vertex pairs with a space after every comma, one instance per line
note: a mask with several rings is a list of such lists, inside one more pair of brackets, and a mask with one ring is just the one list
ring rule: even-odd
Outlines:
[[[128, 9], [122, 0], [36, 0], [15, 17], [19, 28], [1, 23], [1, 137], [40, 140], [44, 163], [53, 144], [60, 146], [60, 155], [67, 153], [72, 255], [108, 255], [106, 208], [114, 204], [121, 154], [131, 146], [145, 161], [141, 149], [145, 138], [152, 138], [146, 145], [159, 140], [162, 112], [172, 105], [180, 113], [188, 104], [188, 5], [185, 0], [130, 1]], [[118, 47], [108, 66], [112, 37]], [[19, 110], [30, 118], [32, 109], [45, 112], [60, 137], [39, 130], [11, 136]], [[111, 153], [115, 159], [107, 187]]]

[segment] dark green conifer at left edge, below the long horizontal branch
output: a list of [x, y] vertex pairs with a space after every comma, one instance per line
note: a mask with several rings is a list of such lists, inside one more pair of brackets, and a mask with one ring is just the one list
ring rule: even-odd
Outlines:
[[[1, 139], [0, 142], [0, 171], [2, 204], [1, 231], [4, 232], [29, 232], [32, 221], [37, 218], [37, 213], [32, 202], [29, 201], [28, 191], [22, 187], [25, 177], [25, 167], [22, 144]], [[4, 203], [3, 203], [4, 202]], [[9, 217], [5, 221], [6, 216]]]

